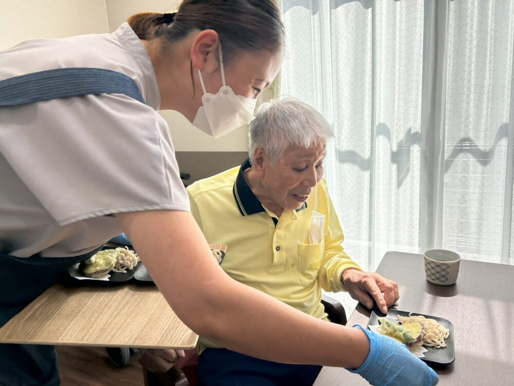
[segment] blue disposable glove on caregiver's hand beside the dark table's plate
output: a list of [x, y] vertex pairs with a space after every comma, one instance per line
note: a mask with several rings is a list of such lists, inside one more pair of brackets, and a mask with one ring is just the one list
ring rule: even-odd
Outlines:
[[412, 355], [405, 344], [359, 325], [354, 327], [368, 336], [370, 353], [360, 367], [350, 370], [352, 373], [359, 374], [375, 386], [433, 386], [439, 382], [435, 371]]

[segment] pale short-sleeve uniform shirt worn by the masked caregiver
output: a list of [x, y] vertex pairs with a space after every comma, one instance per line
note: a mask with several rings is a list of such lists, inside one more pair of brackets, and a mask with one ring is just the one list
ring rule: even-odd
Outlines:
[[0, 108], [0, 254], [77, 256], [121, 232], [113, 214], [189, 211], [154, 69], [130, 26], [0, 52], [0, 80], [65, 67], [125, 74], [146, 104], [102, 94]]

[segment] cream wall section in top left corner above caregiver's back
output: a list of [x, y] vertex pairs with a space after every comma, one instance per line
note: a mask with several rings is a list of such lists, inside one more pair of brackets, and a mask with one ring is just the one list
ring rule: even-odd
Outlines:
[[107, 32], [104, 0], [0, 0], [0, 50], [29, 39]]

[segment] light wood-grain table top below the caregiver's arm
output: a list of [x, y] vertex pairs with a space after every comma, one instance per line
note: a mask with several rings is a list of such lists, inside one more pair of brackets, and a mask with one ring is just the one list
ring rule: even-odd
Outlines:
[[155, 286], [56, 284], [0, 329], [0, 343], [190, 349], [198, 336]]

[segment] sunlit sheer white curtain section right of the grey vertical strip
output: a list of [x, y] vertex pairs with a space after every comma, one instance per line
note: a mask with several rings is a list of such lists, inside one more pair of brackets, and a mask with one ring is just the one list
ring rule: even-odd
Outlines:
[[511, 216], [505, 188], [513, 21], [509, 1], [450, 3], [440, 233], [445, 248], [469, 259], [500, 262], [502, 242], [509, 242], [502, 238], [504, 212]]

